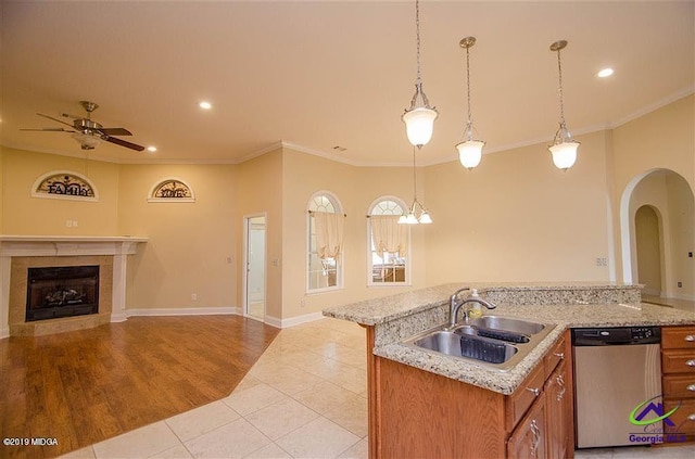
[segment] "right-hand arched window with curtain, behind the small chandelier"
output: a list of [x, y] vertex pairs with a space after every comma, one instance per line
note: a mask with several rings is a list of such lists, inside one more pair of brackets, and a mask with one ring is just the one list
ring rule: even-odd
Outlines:
[[405, 209], [405, 203], [394, 196], [381, 196], [369, 207], [368, 285], [410, 284], [409, 226], [397, 224]]

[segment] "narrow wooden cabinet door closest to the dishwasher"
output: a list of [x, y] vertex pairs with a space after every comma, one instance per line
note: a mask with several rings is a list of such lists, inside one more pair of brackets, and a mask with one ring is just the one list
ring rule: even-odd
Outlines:
[[545, 384], [546, 444], [547, 457], [565, 459], [569, 443], [569, 419], [571, 403], [567, 391], [565, 364], [551, 374]]

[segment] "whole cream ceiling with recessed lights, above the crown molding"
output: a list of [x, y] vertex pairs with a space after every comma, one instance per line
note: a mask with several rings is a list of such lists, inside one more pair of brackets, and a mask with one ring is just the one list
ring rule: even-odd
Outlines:
[[[238, 163], [282, 141], [355, 165], [407, 165], [400, 117], [415, 82], [415, 1], [1, 3], [2, 144], [83, 156], [37, 112], [125, 127], [92, 158]], [[547, 142], [557, 129], [557, 56], [573, 135], [615, 127], [693, 92], [695, 1], [420, 3], [424, 88], [440, 112], [420, 164], [456, 157], [472, 113], [485, 152]], [[598, 79], [611, 66], [616, 73]], [[201, 111], [200, 100], [214, 106]], [[70, 123], [70, 119], [67, 119]], [[345, 148], [336, 152], [334, 146]]]

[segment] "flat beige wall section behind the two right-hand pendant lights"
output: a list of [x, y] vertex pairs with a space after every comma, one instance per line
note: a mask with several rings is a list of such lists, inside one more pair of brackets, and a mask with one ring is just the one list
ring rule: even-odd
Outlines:
[[557, 169], [544, 144], [427, 168], [427, 284], [608, 280], [605, 132]]

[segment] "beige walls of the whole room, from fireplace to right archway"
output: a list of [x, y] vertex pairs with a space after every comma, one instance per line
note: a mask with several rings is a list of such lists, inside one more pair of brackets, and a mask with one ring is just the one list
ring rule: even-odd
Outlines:
[[[470, 171], [457, 162], [418, 168], [418, 197], [434, 224], [412, 228], [413, 286], [609, 280], [611, 266], [596, 266], [596, 258], [615, 260], [621, 280], [624, 190], [649, 170], [671, 169], [684, 180], [667, 189], [685, 188], [692, 196], [694, 103], [691, 95], [612, 131], [581, 136], [578, 162], [566, 173], [553, 166], [544, 144], [486, 154]], [[241, 307], [243, 217], [257, 214], [267, 217], [271, 319], [407, 289], [367, 286], [365, 216], [379, 196], [412, 202], [410, 167], [355, 167], [287, 148], [240, 165], [117, 165], [7, 148], [0, 153], [3, 234], [150, 238], [130, 257], [129, 309]], [[59, 169], [89, 177], [99, 202], [31, 197], [34, 181]], [[150, 188], [167, 177], [186, 180], [197, 201], [148, 203]], [[348, 214], [344, 289], [307, 295], [306, 204], [321, 190], [336, 194]], [[673, 215], [670, 269], [684, 283], [679, 293], [692, 296], [693, 258], [682, 259], [695, 250], [692, 200], [666, 205]], [[67, 219], [78, 227], [67, 228]], [[678, 233], [683, 226], [690, 229]]]

